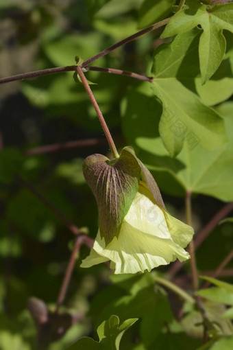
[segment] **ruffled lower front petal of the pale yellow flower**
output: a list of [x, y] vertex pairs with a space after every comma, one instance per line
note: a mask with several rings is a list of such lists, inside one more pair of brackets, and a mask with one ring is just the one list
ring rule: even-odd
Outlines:
[[116, 264], [115, 273], [136, 273], [150, 271], [160, 265], [167, 265], [175, 259], [184, 261], [188, 253], [171, 239], [147, 235], [123, 221], [118, 239], [105, 247], [98, 231], [93, 249], [102, 257]]

